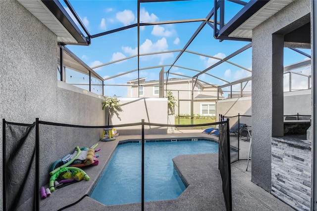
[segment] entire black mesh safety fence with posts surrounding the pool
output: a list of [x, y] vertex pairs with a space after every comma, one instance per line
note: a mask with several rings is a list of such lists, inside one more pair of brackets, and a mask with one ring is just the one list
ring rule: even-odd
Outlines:
[[[230, 173], [230, 136], [227, 134], [228, 121], [220, 121], [214, 123], [196, 124], [196, 125], [171, 125], [171, 124], [155, 124], [147, 123], [142, 120], [138, 123], [121, 124], [121, 125], [103, 125], [103, 126], [83, 126], [83, 125], [71, 125], [61, 124], [47, 121], [40, 121], [36, 118], [33, 124], [20, 124], [2, 121], [2, 138], [3, 138], [3, 210], [17, 210], [21, 205], [28, 206], [25, 210], [40, 210], [41, 192], [40, 186], [46, 184], [46, 181], [42, 181], [43, 178], [47, 178], [48, 175], [43, 177], [41, 169], [45, 169], [43, 162], [39, 161], [40, 155], [43, 158], [45, 152], [40, 152], [43, 148], [42, 144], [47, 144], [48, 140], [52, 144], [53, 140], [50, 140], [52, 134], [54, 136], [54, 142], [60, 140], [62, 137], [71, 139], [73, 134], [78, 136], [84, 135], [85, 132], [80, 130], [98, 129], [94, 133], [104, 131], [106, 128], [130, 128], [129, 133], [140, 135], [141, 132], [141, 210], [144, 210], [144, 144], [145, 135], [151, 134], [151, 131], [157, 130], [160, 132], [162, 128], [169, 127], [193, 127], [193, 126], [210, 126], [216, 128], [219, 125], [219, 170], [223, 180], [223, 194], [225, 197], [227, 210], [232, 208], [231, 204], [231, 173]], [[65, 127], [63, 130], [58, 130], [58, 127]], [[35, 128], [35, 129], [34, 129]], [[68, 128], [68, 129], [67, 129]], [[85, 128], [85, 129], [84, 129]], [[131, 128], [133, 128], [131, 130]], [[141, 131], [140, 131], [141, 130]], [[123, 131], [123, 130], [122, 130]], [[49, 133], [52, 133], [51, 135]], [[60, 134], [59, 134], [60, 133]], [[82, 133], [82, 134], [81, 134]], [[59, 134], [59, 135], [58, 135]], [[67, 135], [68, 134], [68, 135]], [[105, 135], [105, 136], [104, 136]], [[190, 136], [190, 135], [189, 135]], [[104, 138], [106, 134], [103, 134]], [[94, 137], [95, 138], [95, 137]], [[100, 136], [99, 136], [100, 139]], [[98, 141], [99, 141], [98, 139]], [[62, 141], [62, 140], [60, 140]], [[195, 141], [191, 139], [191, 141]], [[72, 142], [68, 140], [68, 142]], [[56, 143], [58, 145], [58, 143]], [[65, 143], [64, 143], [65, 144]], [[68, 143], [69, 144], [69, 143]], [[70, 146], [71, 144], [69, 144]], [[221, 145], [221, 146], [220, 146]], [[67, 145], [68, 146], [68, 145]], [[221, 156], [220, 156], [221, 154]], [[21, 167], [22, 165], [22, 167]], [[40, 182], [41, 181], [41, 182]], [[50, 187], [51, 188], [51, 187]], [[212, 191], [212, 190], [211, 190]], [[85, 195], [88, 196], [88, 195]], [[82, 200], [83, 196], [80, 200]], [[78, 200], [77, 202], [79, 202]], [[77, 203], [75, 202], [75, 203]], [[67, 202], [65, 202], [67, 203]], [[59, 210], [63, 210], [67, 207], [73, 206], [75, 203], [67, 205]], [[59, 205], [61, 206], [61, 205]]]

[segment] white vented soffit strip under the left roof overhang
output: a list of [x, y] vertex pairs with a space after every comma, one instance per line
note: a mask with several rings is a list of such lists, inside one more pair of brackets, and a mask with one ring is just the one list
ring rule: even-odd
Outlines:
[[57, 36], [58, 42], [78, 43], [40, 0], [18, 1]]

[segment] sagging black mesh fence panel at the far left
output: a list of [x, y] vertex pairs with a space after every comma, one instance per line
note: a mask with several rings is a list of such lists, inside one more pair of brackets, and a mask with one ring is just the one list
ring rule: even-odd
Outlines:
[[[23, 124], [2, 119], [2, 197], [3, 210], [23, 207], [36, 210], [35, 123]], [[23, 210], [23, 209], [22, 209]]]

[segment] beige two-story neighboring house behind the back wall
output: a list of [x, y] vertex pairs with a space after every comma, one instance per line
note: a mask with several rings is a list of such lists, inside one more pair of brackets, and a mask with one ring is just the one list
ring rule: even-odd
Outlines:
[[[130, 80], [127, 84], [131, 85], [128, 88], [128, 97], [140, 98], [159, 98], [166, 93], [166, 82], [160, 94], [159, 80], [146, 81], [146, 78]], [[140, 85], [140, 86], [138, 86]], [[191, 100], [193, 98], [193, 114], [215, 116], [216, 114], [216, 100], [217, 100], [217, 86], [211, 86], [200, 81], [195, 83], [192, 79], [186, 78], [170, 78], [168, 79], [167, 90], [170, 90], [177, 99], [175, 107], [175, 115], [190, 115], [191, 114]], [[193, 90], [193, 97], [192, 91]], [[221, 95], [219, 96], [220, 98]]]

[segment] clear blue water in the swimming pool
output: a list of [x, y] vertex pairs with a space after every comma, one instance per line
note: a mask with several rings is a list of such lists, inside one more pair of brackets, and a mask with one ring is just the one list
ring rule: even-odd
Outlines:
[[[211, 141], [145, 143], [144, 200], [176, 199], [185, 190], [172, 158], [217, 152], [218, 144]], [[141, 202], [141, 143], [117, 147], [91, 198], [104, 205]]]

